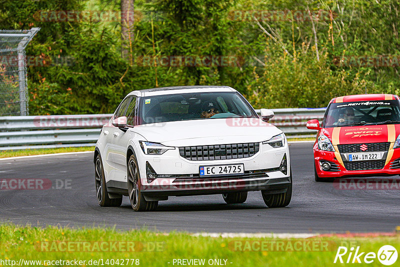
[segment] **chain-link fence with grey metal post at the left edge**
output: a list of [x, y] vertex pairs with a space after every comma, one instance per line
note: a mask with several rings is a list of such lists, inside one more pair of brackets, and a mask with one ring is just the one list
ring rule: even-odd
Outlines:
[[29, 114], [25, 47], [39, 30], [0, 29], [0, 116]]

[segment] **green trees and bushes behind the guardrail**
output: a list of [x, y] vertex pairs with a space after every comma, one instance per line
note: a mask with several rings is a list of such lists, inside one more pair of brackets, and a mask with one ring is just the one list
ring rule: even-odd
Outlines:
[[[30, 114], [112, 112], [131, 90], [216, 84], [255, 108], [321, 107], [335, 96], [400, 93], [398, 67], [343, 66], [336, 57], [399, 55], [397, 0], [136, 0], [133, 57], [235, 55], [235, 67], [130, 65], [118, 21], [40, 21], [38, 10], [119, 10], [115, 0], [0, 0], [0, 28], [41, 27], [27, 55], [73, 57], [28, 67]], [[330, 10], [331, 20], [234, 19], [235, 10]], [[248, 17], [247, 17], [248, 18]], [[315, 45], [315, 37], [316, 44]], [[154, 48], [153, 48], [154, 45]], [[256, 60], [257, 58], [258, 60]]]

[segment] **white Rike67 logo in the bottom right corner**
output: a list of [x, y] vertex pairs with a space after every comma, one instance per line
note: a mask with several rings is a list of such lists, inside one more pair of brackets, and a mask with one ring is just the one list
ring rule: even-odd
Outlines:
[[397, 260], [397, 250], [391, 245], [381, 246], [377, 253], [361, 251], [359, 246], [339, 246], [333, 263], [372, 263], [376, 259], [383, 265], [392, 265]]

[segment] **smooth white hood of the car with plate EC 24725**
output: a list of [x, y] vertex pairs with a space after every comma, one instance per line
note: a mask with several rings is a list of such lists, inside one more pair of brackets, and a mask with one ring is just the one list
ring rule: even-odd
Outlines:
[[233, 123], [232, 118], [159, 122], [137, 125], [131, 130], [147, 141], [168, 146], [261, 142], [282, 132], [259, 118], [236, 119]]

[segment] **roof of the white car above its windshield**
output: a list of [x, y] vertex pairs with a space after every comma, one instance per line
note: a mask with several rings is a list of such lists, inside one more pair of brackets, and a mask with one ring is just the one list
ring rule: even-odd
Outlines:
[[191, 86], [171, 86], [135, 90], [128, 93], [128, 95], [136, 96], [153, 96], [174, 93], [188, 93], [188, 92], [235, 92], [236, 90], [229, 86], [213, 86], [213, 85], [191, 85]]

